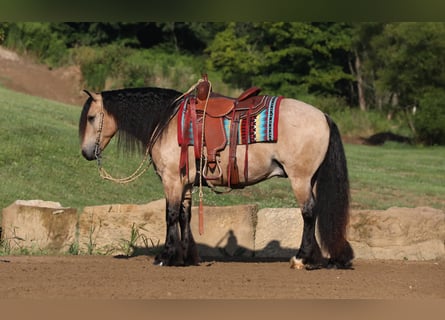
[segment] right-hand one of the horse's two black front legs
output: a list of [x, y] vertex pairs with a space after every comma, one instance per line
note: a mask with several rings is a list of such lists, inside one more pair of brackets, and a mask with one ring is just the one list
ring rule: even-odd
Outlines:
[[193, 238], [190, 228], [192, 216], [192, 187], [187, 188], [182, 201], [181, 213], [179, 215], [179, 225], [181, 227], [181, 244], [184, 252], [184, 262], [186, 265], [198, 265], [198, 248]]

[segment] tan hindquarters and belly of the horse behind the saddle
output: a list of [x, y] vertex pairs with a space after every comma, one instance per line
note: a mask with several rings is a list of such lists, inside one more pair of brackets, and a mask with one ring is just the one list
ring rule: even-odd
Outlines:
[[[295, 99], [282, 99], [278, 136], [274, 143], [238, 146], [239, 172], [244, 172], [248, 150], [248, 183], [274, 176], [311, 179], [323, 161], [329, 144], [329, 125], [319, 109]], [[229, 154], [221, 153], [222, 166]], [[240, 174], [241, 176], [242, 174]]]

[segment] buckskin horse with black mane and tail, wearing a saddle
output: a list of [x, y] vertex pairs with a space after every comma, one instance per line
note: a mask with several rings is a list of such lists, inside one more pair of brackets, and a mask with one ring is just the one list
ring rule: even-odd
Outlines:
[[[354, 254], [346, 239], [350, 199], [347, 163], [334, 121], [309, 104], [279, 97], [274, 99], [274, 112], [262, 116], [266, 125], [254, 128], [263, 120], [252, 104], [271, 101], [270, 97], [259, 96], [254, 88], [238, 99], [212, 92], [203, 100], [199, 88], [186, 94], [155, 87], [101, 93], [85, 90], [89, 97], [79, 121], [82, 155], [99, 162], [102, 151], [117, 134], [118, 146], [146, 152], [162, 181], [167, 230], [154, 264], [199, 264], [190, 228], [192, 190], [199, 181], [212, 187], [243, 188], [271, 177], [287, 177], [304, 222], [301, 245], [291, 258], [291, 267], [352, 268]], [[242, 115], [233, 116], [238, 109]], [[212, 117], [214, 122], [207, 121]], [[224, 137], [224, 128], [215, 129], [217, 143], [212, 143], [212, 132], [208, 132], [213, 126], [227, 130]], [[251, 128], [256, 131], [252, 133]], [[255, 140], [258, 131], [268, 129], [274, 131], [275, 140], [249, 141]], [[228, 136], [236, 133], [238, 143], [234, 145], [236, 139]], [[244, 174], [235, 174], [238, 172]]]

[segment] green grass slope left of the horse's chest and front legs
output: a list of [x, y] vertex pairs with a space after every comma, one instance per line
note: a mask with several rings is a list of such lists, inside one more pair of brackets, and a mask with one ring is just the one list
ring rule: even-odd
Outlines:
[[[163, 196], [153, 170], [129, 185], [99, 178], [95, 162], [80, 154], [80, 111], [80, 106], [0, 88], [0, 207], [17, 199], [43, 199], [81, 209], [104, 203], [145, 203]], [[109, 149], [104, 163], [117, 175], [131, 173], [142, 158], [127, 159], [116, 148]], [[110, 162], [114, 166], [109, 167]]]

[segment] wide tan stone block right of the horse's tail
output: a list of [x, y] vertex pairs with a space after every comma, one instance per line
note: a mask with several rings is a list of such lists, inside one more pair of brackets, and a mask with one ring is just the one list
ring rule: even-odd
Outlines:
[[351, 214], [348, 238], [356, 258], [445, 258], [445, 213], [429, 207], [357, 210]]

